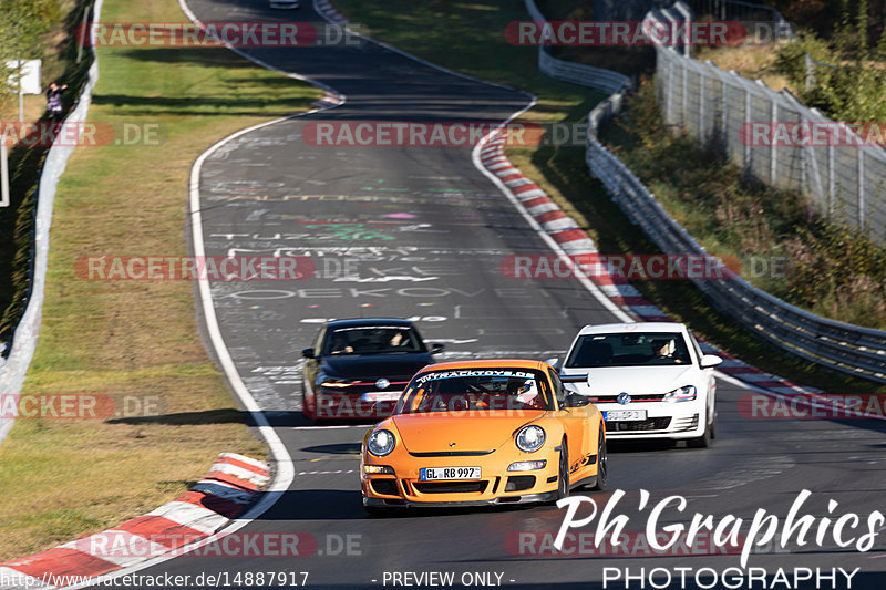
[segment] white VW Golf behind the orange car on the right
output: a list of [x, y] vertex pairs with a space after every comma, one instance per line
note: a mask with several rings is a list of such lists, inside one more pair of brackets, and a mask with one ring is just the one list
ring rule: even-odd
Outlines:
[[717, 436], [713, 368], [721, 362], [702, 354], [682, 323], [612, 323], [583, 328], [558, 369], [602, 412], [607, 437], [707, 447]]

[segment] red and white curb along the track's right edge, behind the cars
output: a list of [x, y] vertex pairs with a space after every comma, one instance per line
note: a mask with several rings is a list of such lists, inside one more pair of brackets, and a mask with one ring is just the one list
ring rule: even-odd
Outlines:
[[[597, 248], [587, 232], [566, 215], [538, 185], [507, 159], [507, 156], [504, 155], [505, 139], [506, 133], [499, 131], [490, 134], [481, 142], [480, 162], [483, 167], [501, 180], [505, 190], [511, 193], [564, 252], [568, 256], [597, 253]], [[667, 313], [649, 302], [627, 279], [612, 277], [605, 268], [601, 271], [602, 275], [595, 275], [590, 279], [607, 298], [629, 315], [638, 321], [672, 321]], [[704, 353], [717, 354], [723, 359], [723, 363], [719, 368], [721, 373], [741, 381], [752, 390], [775, 395], [806, 395], [817, 402], [831, 403], [821, 395], [823, 393], [821, 390], [801, 386], [779, 375], [761, 371], [708, 342], [700, 341], [700, 344]]]

